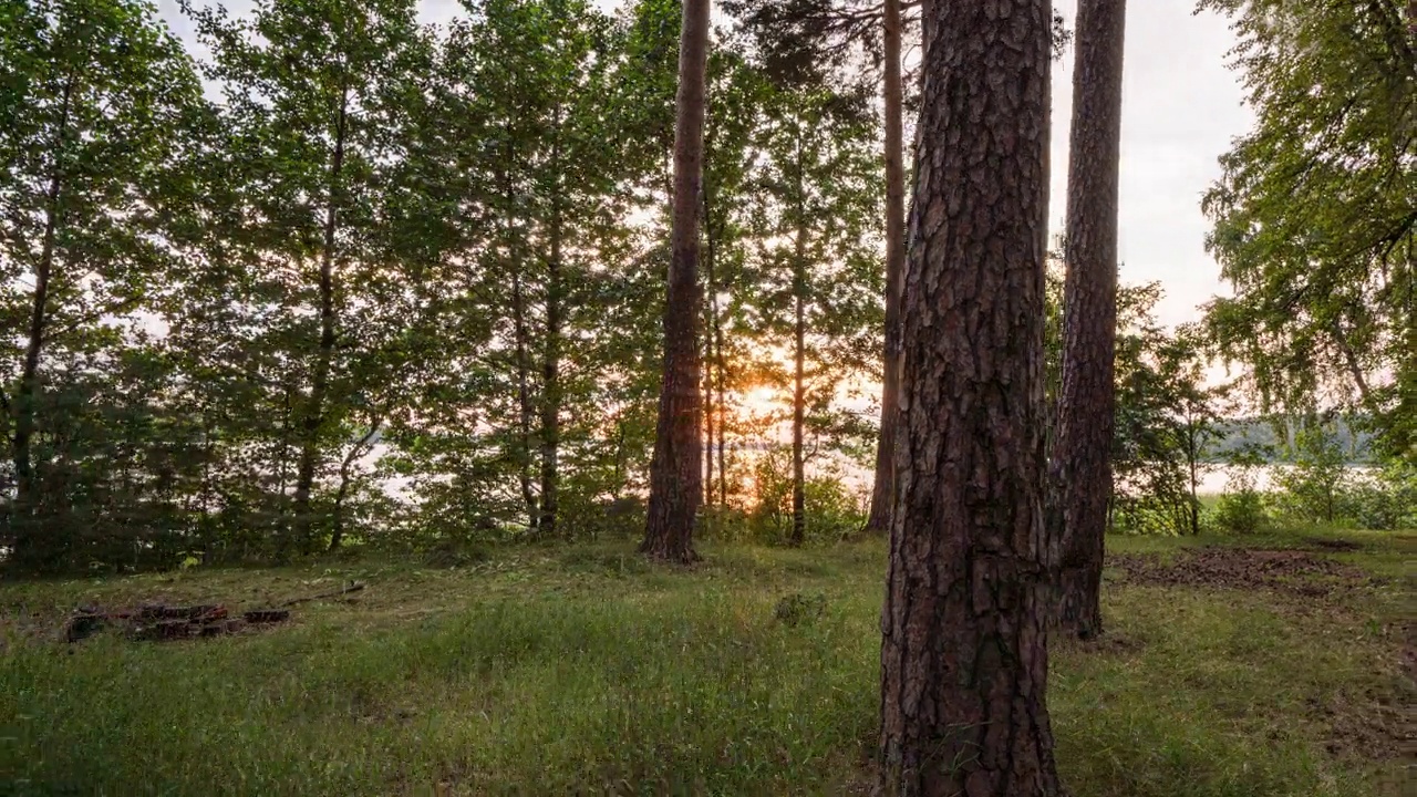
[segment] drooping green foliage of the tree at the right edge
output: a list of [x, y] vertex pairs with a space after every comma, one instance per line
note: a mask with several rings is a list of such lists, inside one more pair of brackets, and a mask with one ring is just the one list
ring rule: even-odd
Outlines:
[[1417, 454], [1411, 316], [1417, 55], [1400, 3], [1202, 0], [1240, 44], [1254, 130], [1204, 197], [1234, 286], [1207, 325], [1268, 406], [1365, 413], [1387, 454]]

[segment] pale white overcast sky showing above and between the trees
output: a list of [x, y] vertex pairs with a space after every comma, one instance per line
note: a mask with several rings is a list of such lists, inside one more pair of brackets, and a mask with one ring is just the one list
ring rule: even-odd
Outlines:
[[[606, 9], [619, 4], [597, 1]], [[225, 6], [244, 13], [251, 0]], [[160, 0], [159, 7], [173, 30], [194, 44], [177, 0]], [[1077, 0], [1056, 0], [1054, 7], [1073, 23]], [[1220, 174], [1216, 159], [1253, 122], [1238, 75], [1226, 67], [1234, 34], [1224, 18], [1193, 14], [1193, 7], [1192, 0], [1132, 0], [1127, 20], [1121, 278], [1165, 286], [1158, 308], [1163, 323], [1197, 318], [1197, 305], [1224, 292], [1219, 267], [1204, 248], [1209, 225], [1200, 214], [1200, 194]], [[459, 9], [456, 0], [422, 0], [419, 14], [444, 23]], [[1067, 196], [1071, 74], [1068, 52], [1053, 79], [1053, 230], [1061, 230]]]

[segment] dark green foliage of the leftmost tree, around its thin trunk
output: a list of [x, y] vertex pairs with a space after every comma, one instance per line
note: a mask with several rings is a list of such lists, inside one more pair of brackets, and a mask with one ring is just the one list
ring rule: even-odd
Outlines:
[[198, 434], [143, 323], [190, 218], [191, 60], [136, 0], [0, 10], [0, 468], [10, 559], [143, 564], [183, 528]]

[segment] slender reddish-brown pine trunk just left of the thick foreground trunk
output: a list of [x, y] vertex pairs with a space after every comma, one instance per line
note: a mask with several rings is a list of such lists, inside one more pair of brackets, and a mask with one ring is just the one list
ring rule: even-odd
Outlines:
[[901, 163], [901, 21], [900, 0], [884, 0], [886, 11], [886, 352], [881, 357], [881, 431], [876, 444], [876, 479], [866, 530], [890, 528], [896, 414], [900, 404], [900, 289], [905, 269], [905, 166]]

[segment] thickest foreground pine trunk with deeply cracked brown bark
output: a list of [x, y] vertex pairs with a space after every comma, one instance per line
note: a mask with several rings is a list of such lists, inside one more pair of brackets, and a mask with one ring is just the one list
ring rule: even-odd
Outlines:
[[881, 793], [1051, 797], [1049, 0], [938, 1], [901, 302]]

